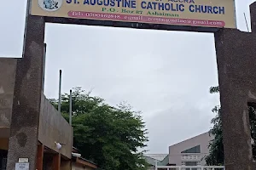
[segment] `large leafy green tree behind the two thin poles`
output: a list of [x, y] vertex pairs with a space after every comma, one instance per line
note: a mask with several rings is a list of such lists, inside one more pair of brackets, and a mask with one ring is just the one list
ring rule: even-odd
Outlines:
[[[74, 146], [84, 158], [95, 161], [104, 170], [144, 170], [143, 149], [148, 138], [140, 112], [121, 103], [113, 107], [104, 99], [73, 88]], [[57, 101], [51, 99], [55, 108]], [[68, 120], [69, 94], [61, 95], [61, 112]]]

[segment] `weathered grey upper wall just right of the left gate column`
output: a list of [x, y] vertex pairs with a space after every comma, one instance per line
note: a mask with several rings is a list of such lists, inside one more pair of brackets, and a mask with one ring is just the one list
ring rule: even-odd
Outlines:
[[[73, 145], [73, 128], [42, 95], [38, 140], [51, 150], [61, 152], [63, 156], [71, 158]], [[55, 142], [61, 144], [61, 150], [56, 148]]]

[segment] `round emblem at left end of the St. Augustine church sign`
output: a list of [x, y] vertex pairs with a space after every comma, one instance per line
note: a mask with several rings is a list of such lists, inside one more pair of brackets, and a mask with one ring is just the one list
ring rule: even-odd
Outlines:
[[63, 0], [38, 0], [39, 6], [49, 12], [53, 12], [61, 8]]

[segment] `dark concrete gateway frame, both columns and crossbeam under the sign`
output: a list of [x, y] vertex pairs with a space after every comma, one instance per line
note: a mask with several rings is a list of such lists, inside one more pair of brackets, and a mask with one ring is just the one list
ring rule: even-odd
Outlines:
[[[30, 0], [28, 0], [28, 9]], [[218, 82], [222, 105], [226, 170], [256, 169], [253, 163], [247, 103], [256, 103], [256, 3], [251, 5], [252, 32], [236, 29], [205, 29], [99, 20], [74, 20], [32, 16], [27, 12], [23, 58], [18, 59], [15, 98], [9, 138], [8, 170], [20, 157], [36, 169], [38, 124], [44, 84], [44, 26], [59, 22], [89, 26], [119, 26], [170, 31], [210, 31], [215, 35]], [[27, 117], [30, 121], [27, 122]]]

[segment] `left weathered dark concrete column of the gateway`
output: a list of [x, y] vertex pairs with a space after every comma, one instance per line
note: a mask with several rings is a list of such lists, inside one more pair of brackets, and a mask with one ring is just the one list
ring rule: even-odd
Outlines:
[[30, 169], [36, 169], [43, 84], [44, 26], [44, 17], [26, 16], [23, 58], [17, 62], [15, 77], [8, 170], [15, 169], [15, 162], [19, 158], [28, 158]]

